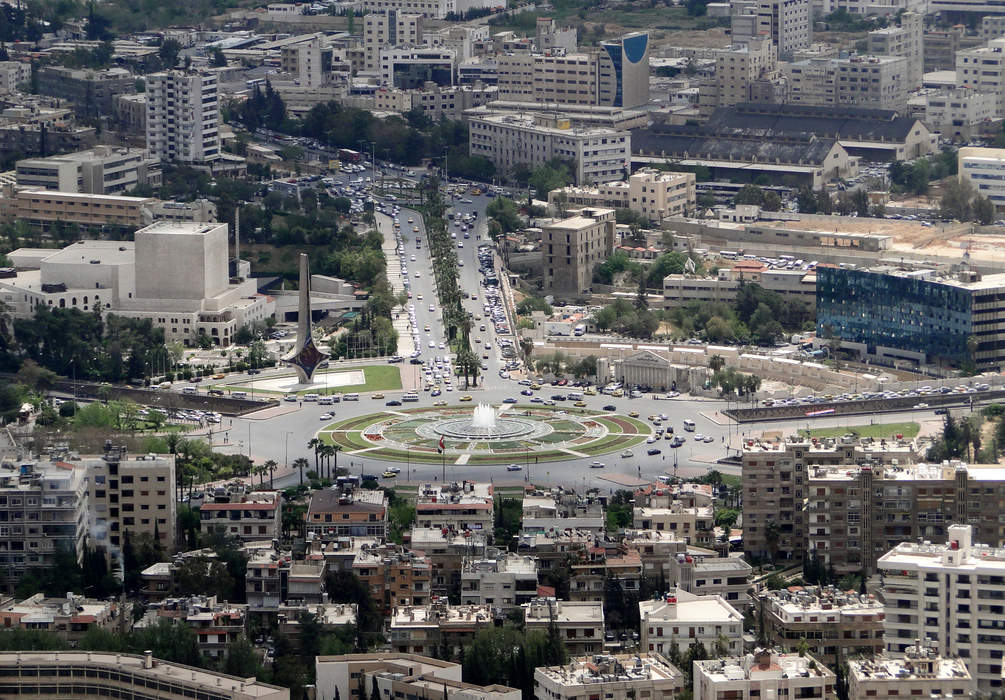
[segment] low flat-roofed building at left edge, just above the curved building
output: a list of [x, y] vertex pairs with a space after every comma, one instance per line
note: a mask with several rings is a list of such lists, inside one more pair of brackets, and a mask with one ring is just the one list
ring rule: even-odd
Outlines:
[[98, 601], [71, 592], [60, 598], [46, 598], [38, 593], [23, 601], [9, 599], [0, 604], [0, 628], [50, 632], [59, 639], [76, 643], [88, 630], [129, 629], [133, 623], [132, 609], [132, 604], [123, 608], [115, 600]]

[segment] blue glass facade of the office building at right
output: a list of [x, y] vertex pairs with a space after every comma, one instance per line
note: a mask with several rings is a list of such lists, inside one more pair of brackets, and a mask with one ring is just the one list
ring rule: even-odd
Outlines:
[[817, 268], [817, 334], [867, 346], [925, 353], [960, 362], [972, 334], [972, 292], [919, 277], [839, 267]]

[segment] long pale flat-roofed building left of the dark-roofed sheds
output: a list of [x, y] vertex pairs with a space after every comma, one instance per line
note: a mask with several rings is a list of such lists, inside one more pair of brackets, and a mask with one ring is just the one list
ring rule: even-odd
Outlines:
[[469, 120], [469, 155], [483, 156], [504, 172], [520, 164], [537, 168], [559, 158], [575, 163], [578, 184], [624, 177], [631, 135], [612, 129], [574, 129], [545, 114], [485, 114]]

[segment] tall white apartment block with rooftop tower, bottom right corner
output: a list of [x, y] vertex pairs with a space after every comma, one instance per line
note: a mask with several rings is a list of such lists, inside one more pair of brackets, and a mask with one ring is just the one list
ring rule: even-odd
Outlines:
[[950, 525], [948, 543], [902, 542], [879, 557], [886, 651], [921, 640], [963, 659], [967, 692], [1000, 693], [1005, 653], [1005, 550], [972, 544], [970, 525]]

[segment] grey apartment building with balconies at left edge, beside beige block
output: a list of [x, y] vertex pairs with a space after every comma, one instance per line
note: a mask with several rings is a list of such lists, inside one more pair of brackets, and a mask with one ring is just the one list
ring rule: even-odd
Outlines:
[[37, 566], [52, 567], [56, 553], [77, 560], [89, 529], [87, 468], [69, 462], [0, 464], [0, 587], [11, 593]]

